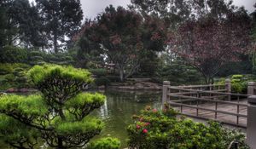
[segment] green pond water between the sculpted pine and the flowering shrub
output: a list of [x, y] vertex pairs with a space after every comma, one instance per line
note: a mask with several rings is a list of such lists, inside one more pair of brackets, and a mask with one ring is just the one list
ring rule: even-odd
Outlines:
[[122, 147], [126, 145], [126, 127], [132, 123], [131, 116], [138, 114], [145, 106], [160, 108], [160, 92], [125, 92], [107, 90], [104, 95], [107, 101], [100, 109], [93, 112], [96, 117], [101, 117], [105, 128], [100, 136], [112, 136], [119, 138]]

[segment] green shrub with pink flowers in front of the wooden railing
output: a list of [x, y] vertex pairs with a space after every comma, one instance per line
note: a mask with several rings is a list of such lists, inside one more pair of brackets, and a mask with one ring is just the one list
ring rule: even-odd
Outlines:
[[219, 123], [195, 123], [177, 118], [168, 106], [163, 111], [147, 107], [134, 116], [135, 124], [128, 126], [131, 148], [218, 148], [226, 149], [232, 140], [240, 141], [240, 148], [248, 148], [245, 136], [236, 130], [224, 129]]

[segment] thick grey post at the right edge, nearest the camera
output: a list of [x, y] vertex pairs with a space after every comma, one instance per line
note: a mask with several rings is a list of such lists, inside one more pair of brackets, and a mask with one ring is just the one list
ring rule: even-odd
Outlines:
[[247, 106], [247, 145], [256, 148], [256, 95], [248, 97]]

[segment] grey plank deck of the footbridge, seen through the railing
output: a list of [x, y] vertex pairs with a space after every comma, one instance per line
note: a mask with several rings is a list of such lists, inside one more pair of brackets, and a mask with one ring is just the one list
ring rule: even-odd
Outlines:
[[[232, 101], [232, 102], [237, 103], [237, 101]], [[239, 103], [247, 104], [247, 100], [241, 100]], [[189, 105], [189, 104], [186, 104], [186, 105]], [[194, 105], [194, 106], [196, 106], [196, 105]], [[178, 112], [181, 112], [180, 106], [173, 106], [173, 107]], [[207, 109], [216, 110], [215, 109], [215, 103], [199, 104], [198, 107], [203, 107], [203, 108], [207, 108]], [[236, 105], [219, 103], [217, 110], [222, 111], [222, 112], [234, 112], [234, 113], [247, 115], [247, 107], [246, 106], [239, 106], [239, 112], [238, 112], [237, 109], [238, 108], [237, 108]], [[215, 118], [215, 112], [209, 112], [209, 111], [206, 111], [206, 110], [199, 109], [198, 110], [198, 115], [197, 115], [197, 110], [195, 108], [185, 107], [185, 106], [182, 107], [182, 114], [186, 115], [186, 116], [189, 116], [189, 117], [217, 120], [218, 122], [226, 123], [226, 124], [230, 124], [230, 125], [236, 125], [234, 123], [237, 123], [237, 116], [224, 114], [224, 113], [217, 113], [217, 119], [216, 119]], [[238, 126], [241, 127], [241, 128], [246, 128], [247, 127], [247, 117], [239, 117], [238, 118]]]

